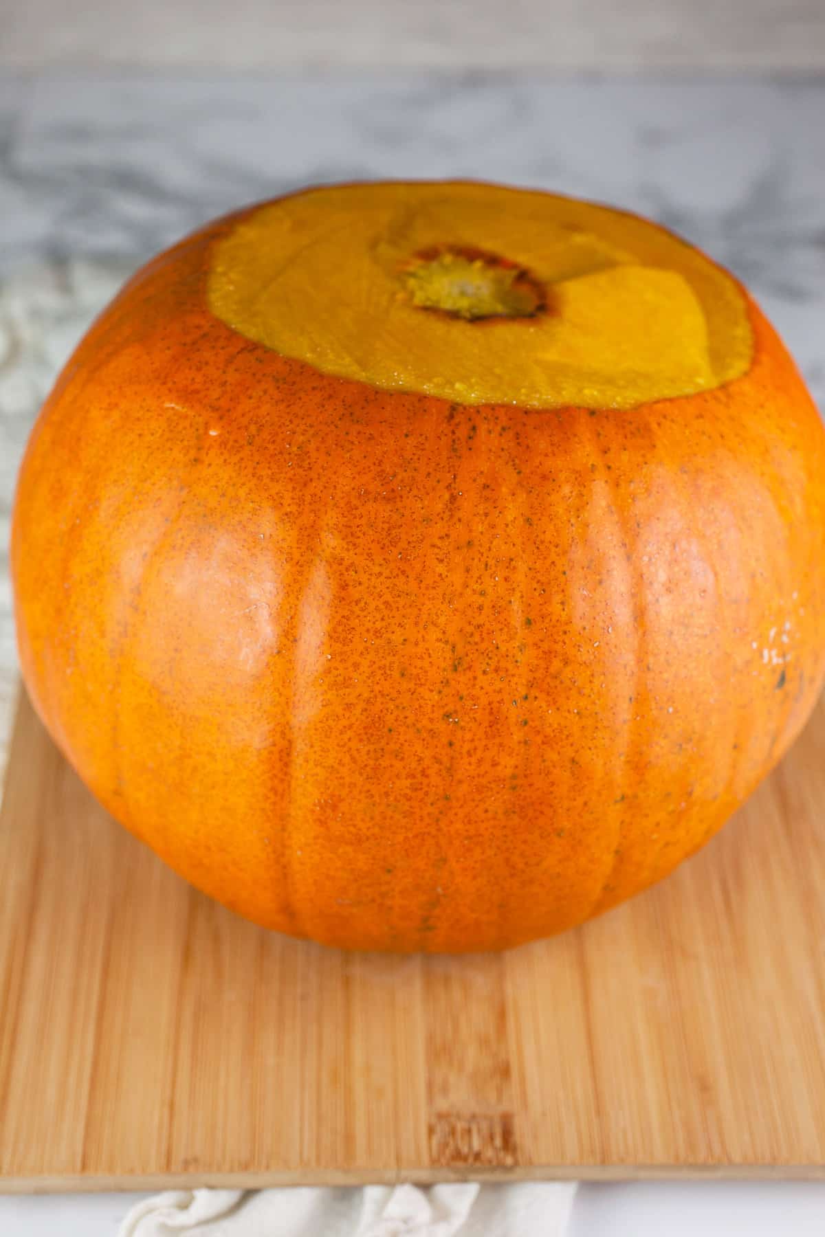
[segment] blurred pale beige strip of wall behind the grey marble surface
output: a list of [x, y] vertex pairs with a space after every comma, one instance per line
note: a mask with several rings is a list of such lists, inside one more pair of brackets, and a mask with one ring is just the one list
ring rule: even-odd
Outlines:
[[825, 71], [825, 0], [0, 0], [0, 67]]

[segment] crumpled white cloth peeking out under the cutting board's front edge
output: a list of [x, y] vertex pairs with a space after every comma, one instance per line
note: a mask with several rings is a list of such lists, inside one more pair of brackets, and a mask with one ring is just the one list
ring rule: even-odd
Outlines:
[[168, 1190], [119, 1237], [562, 1237], [574, 1181]]

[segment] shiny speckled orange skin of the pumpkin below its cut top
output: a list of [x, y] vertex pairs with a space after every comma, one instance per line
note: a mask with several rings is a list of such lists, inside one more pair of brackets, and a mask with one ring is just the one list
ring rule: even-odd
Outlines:
[[631, 408], [323, 372], [210, 309], [250, 215], [141, 270], [41, 413], [12, 528], [35, 706], [267, 928], [464, 951], [578, 924], [700, 847], [813, 709], [813, 401], [746, 293], [746, 372]]

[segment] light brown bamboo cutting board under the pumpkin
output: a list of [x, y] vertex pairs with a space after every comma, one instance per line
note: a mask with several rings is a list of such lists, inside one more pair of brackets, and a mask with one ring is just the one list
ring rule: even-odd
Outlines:
[[266, 933], [115, 825], [24, 701], [0, 1186], [825, 1175], [825, 708], [706, 850], [505, 955]]

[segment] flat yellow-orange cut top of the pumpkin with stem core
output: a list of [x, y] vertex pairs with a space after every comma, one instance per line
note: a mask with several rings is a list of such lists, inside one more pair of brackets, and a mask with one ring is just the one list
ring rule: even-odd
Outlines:
[[743, 375], [736, 281], [656, 224], [498, 186], [282, 198], [216, 245], [213, 313], [325, 374], [458, 403], [631, 408]]

